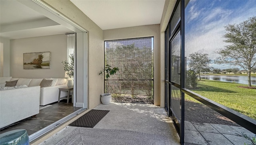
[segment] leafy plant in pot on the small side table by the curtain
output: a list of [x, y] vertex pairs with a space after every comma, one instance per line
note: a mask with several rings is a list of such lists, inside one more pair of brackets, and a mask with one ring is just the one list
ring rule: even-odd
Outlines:
[[74, 86], [74, 54], [70, 54], [69, 58], [70, 63], [68, 63], [68, 61], [65, 60], [62, 61], [62, 64], [64, 65], [64, 71], [68, 75], [68, 87], [70, 88]]

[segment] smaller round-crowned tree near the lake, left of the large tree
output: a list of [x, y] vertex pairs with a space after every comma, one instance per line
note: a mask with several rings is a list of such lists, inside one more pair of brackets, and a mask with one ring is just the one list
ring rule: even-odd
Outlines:
[[201, 80], [200, 72], [202, 70], [210, 69], [209, 64], [211, 63], [211, 59], [209, 59], [208, 54], [204, 53], [192, 53], [189, 55], [189, 63], [188, 66], [190, 69], [194, 70], [199, 74], [199, 80]]

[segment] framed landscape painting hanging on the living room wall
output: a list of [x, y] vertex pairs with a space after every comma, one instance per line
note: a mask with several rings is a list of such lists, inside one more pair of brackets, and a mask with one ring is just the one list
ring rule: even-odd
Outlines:
[[50, 69], [51, 53], [23, 53], [23, 69]]

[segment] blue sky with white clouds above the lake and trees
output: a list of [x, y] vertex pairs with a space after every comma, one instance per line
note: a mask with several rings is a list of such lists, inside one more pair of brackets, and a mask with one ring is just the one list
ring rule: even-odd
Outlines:
[[216, 51], [227, 45], [222, 37], [226, 32], [224, 26], [239, 24], [253, 16], [256, 16], [256, 0], [190, 0], [185, 9], [185, 57], [194, 52], [207, 53], [212, 60], [219, 57]]

